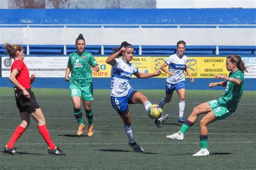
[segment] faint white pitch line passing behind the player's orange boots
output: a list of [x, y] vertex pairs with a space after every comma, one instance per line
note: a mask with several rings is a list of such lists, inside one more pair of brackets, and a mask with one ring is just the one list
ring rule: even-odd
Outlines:
[[[0, 129], [0, 131], [14, 131], [15, 129]], [[26, 131], [38, 131], [38, 129], [27, 129]], [[76, 130], [49, 130], [48, 131], [52, 131], [52, 132], [76, 132]], [[99, 133], [124, 133], [123, 131], [95, 131], [95, 132], [99, 132]], [[133, 133], [170, 133], [173, 134], [175, 132], [133, 132]], [[198, 132], [195, 133], [186, 133], [186, 134], [199, 134]], [[224, 135], [256, 135], [256, 133], [208, 133], [208, 134], [224, 134]]]

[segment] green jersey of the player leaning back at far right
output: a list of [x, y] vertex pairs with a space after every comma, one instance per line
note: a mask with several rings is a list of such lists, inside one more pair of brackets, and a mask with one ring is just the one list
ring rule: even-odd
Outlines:
[[224, 104], [228, 110], [234, 112], [244, 91], [245, 77], [241, 70], [230, 73], [229, 77], [240, 79], [242, 83], [238, 86], [235, 83], [227, 81], [225, 93], [218, 99], [219, 104]]

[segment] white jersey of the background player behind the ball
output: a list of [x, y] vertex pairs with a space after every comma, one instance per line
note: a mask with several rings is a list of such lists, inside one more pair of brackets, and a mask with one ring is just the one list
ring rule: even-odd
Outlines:
[[168, 76], [166, 82], [171, 84], [177, 84], [180, 81], [185, 81], [184, 70], [186, 68], [187, 56], [179, 58], [178, 54], [169, 56], [165, 63], [169, 65], [169, 72], [173, 73], [173, 76]]

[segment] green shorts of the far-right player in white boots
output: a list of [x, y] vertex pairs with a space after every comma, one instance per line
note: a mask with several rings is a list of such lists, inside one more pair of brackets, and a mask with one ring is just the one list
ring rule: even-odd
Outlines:
[[211, 106], [218, 121], [233, 114], [232, 111], [227, 110], [224, 104], [219, 104], [217, 100], [209, 101], [208, 104]]

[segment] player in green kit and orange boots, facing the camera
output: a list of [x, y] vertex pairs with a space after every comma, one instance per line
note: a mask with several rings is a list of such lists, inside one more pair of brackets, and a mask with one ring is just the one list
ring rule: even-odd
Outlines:
[[91, 137], [93, 134], [93, 111], [91, 108], [91, 101], [93, 100], [92, 70], [93, 72], [98, 72], [99, 67], [93, 55], [84, 51], [85, 39], [83, 34], [79, 34], [76, 39], [76, 48], [77, 52], [69, 55], [65, 81], [69, 81], [69, 74], [71, 72], [70, 94], [73, 102], [74, 115], [79, 125], [77, 135], [82, 135], [85, 127], [83, 124], [83, 114], [81, 110], [82, 98], [86, 117], [89, 123], [87, 136]]

